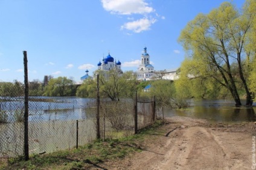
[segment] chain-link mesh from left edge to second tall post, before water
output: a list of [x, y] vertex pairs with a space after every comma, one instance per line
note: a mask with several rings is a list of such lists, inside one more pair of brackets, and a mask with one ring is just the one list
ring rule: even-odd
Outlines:
[[[0, 91], [0, 94], [1, 91]], [[29, 154], [85, 145], [96, 138], [92, 99], [29, 97]], [[24, 97], [0, 99], [0, 157], [24, 154]]]

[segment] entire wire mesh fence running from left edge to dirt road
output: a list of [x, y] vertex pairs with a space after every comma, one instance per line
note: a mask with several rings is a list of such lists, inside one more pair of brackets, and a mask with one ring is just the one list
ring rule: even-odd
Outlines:
[[[6, 91], [0, 82], [0, 159], [20, 157], [24, 145], [24, 93]], [[24, 86], [19, 85], [19, 88]], [[14, 92], [18, 92], [15, 94]], [[21, 93], [20, 93], [21, 92]], [[100, 137], [120, 138], [135, 129], [135, 101], [100, 100]], [[97, 100], [78, 97], [28, 97], [29, 155], [85, 145], [97, 138]], [[138, 129], [153, 123], [152, 101], [137, 102]]]

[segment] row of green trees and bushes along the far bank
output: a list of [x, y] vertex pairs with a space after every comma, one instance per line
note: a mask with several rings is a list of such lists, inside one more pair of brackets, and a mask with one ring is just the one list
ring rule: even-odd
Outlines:
[[[132, 71], [120, 74], [116, 70], [101, 71], [99, 74], [99, 93], [101, 99], [119, 101], [121, 99], [134, 99], [135, 91], [139, 97], [156, 97], [157, 105], [170, 106], [172, 108], [184, 108], [189, 96], [178, 93], [173, 81], [151, 80], [138, 81]], [[144, 88], [151, 84], [152, 88], [144, 92]], [[22, 96], [24, 85], [15, 81], [0, 82], [0, 96]], [[82, 85], [75, 85], [67, 77], [51, 78], [47, 84], [37, 80], [29, 83], [30, 96], [77, 96], [84, 98], [97, 97], [97, 79], [84, 80]]]

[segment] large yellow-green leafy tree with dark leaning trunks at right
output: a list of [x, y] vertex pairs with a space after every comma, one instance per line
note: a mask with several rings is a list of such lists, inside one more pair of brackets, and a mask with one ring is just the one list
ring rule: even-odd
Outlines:
[[[190, 58], [186, 62], [191, 62], [187, 64], [189, 68], [181, 67], [181, 74], [188, 79], [208, 79], [219, 83], [229, 90], [235, 105], [242, 105], [239, 85], [245, 91], [246, 105], [252, 105], [253, 101], [245, 63], [246, 59], [250, 62], [252, 58], [248, 36], [255, 24], [255, 4], [255, 0], [246, 1], [240, 14], [231, 3], [224, 2], [209, 14], [198, 14], [179, 37]], [[237, 70], [234, 72], [232, 67]]]

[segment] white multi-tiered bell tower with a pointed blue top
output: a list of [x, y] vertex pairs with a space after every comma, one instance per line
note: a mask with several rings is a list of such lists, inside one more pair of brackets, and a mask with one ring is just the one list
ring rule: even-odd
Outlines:
[[155, 70], [153, 65], [150, 64], [150, 56], [147, 53], [147, 47], [144, 47], [144, 52], [141, 54], [141, 64], [139, 64], [136, 73], [137, 80], [149, 80], [153, 79]]

